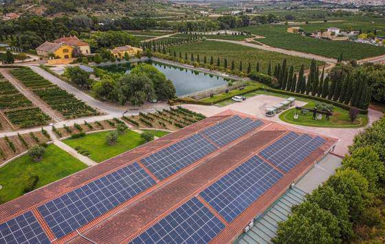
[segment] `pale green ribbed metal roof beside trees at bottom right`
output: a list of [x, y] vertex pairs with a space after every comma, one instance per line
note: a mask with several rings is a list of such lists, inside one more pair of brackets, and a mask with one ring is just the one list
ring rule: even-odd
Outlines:
[[268, 210], [254, 220], [253, 227], [241, 235], [236, 243], [272, 243], [272, 238], [276, 236], [278, 222], [285, 221], [292, 213], [292, 207], [302, 203], [306, 194], [296, 186], [289, 188]]

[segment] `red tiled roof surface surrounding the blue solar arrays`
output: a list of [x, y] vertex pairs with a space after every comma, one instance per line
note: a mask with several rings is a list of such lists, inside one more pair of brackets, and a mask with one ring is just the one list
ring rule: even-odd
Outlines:
[[[203, 119], [177, 132], [168, 134], [131, 151], [126, 151], [115, 158], [101, 162], [94, 167], [89, 167], [1, 205], [0, 223], [32, 210], [50, 241], [54, 243], [126, 243], [135, 239], [135, 237], [142, 234], [142, 232], [182, 204], [185, 204], [192, 197], [197, 197], [225, 225], [225, 228], [211, 240], [211, 243], [230, 243], [242, 233], [245, 225], [248, 225], [254, 217], [269, 208], [272, 203], [285, 193], [290, 184], [307, 173], [314, 166], [315, 162], [325, 156], [325, 152], [333, 147], [337, 141], [335, 138], [321, 136], [326, 143], [313, 151], [288, 173], [284, 173], [274, 164], [265, 160], [274, 169], [280, 171], [283, 177], [241, 214], [235, 217], [233, 221], [228, 223], [199, 196], [199, 193], [289, 132], [294, 131], [297, 134], [303, 134], [303, 132], [272, 121], [259, 119], [263, 122], [263, 125], [256, 127], [228, 145], [219, 147], [219, 149], [164, 180], [158, 180], [150, 170], [146, 169], [140, 160], [153, 154], [155, 151], [159, 151], [159, 149], [173, 145], [234, 115], [242, 118], [257, 119], [248, 114], [232, 110], [226, 110], [214, 117]], [[55, 239], [54, 233], [37, 209], [39, 206], [104, 175], [133, 164], [133, 162], [139, 162], [140, 166], [144, 168], [146, 173], [151, 175], [151, 178], [156, 183], [142, 193], [104, 213], [104, 215], [100, 215], [100, 217], [86, 223], [78, 228], [77, 231], [71, 232], [61, 239]]]

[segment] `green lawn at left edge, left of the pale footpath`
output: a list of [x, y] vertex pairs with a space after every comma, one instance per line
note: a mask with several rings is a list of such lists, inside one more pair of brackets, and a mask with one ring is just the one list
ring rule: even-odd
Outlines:
[[41, 162], [33, 162], [28, 155], [17, 158], [0, 168], [0, 197], [3, 202], [23, 195], [25, 182], [31, 175], [39, 176], [36, 188], [87, 168], [76, 158], [56, 145], [49, 145]]

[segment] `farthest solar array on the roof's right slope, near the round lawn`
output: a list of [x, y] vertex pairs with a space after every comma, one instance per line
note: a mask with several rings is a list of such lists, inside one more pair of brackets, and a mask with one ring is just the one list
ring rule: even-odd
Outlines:
[[298, 136], [290, 132], [261, 151], [260, 155], [287, 173], [324, 143], [325, 140], [320, 136], [311, 138], [307, 134]]

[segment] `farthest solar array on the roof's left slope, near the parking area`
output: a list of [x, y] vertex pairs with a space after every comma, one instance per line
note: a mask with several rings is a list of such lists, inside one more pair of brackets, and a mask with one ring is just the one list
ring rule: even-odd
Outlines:
[[263, 125], [262, 121], [253, 121], [249, 118], [242, 119], [239, 116], [234, 116], [209, 127], [202, 133], [208, 136], [211, 141], [217, 143], [217, 145], [224, 146], [261, 125]]

